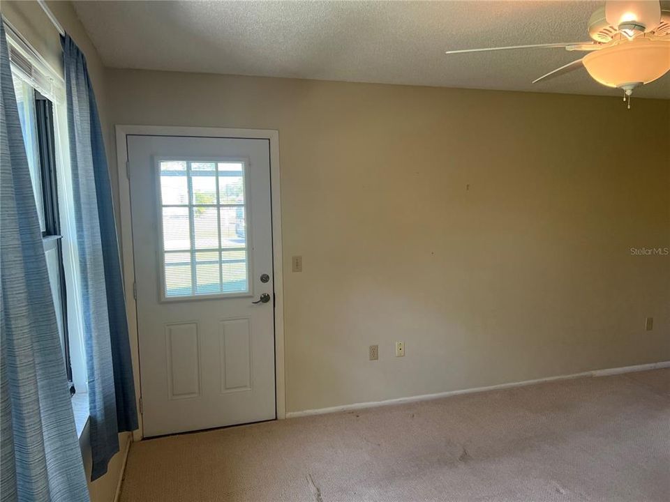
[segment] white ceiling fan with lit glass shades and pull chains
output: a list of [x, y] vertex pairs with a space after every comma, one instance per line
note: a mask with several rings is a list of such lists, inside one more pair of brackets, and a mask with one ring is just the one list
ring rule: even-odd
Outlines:
[[487, 47], [446, 54], [535, 47], [588, 52], [533, 80], [533, 84], [586, 68], [596, 82], [623, 89], [623, 100], [628, 101], [629, 109], [630, 96], [636, 87], [653, 82], [670, 70], [670, 10], [662, 10], [658, 0], [606, 1], [588, 20], [588, 34], [593, 41]]

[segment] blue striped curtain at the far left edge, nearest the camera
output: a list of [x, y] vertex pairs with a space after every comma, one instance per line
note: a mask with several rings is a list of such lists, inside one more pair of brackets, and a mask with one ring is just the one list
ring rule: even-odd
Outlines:
[[0, 283], [0, 501], [88, 501], [1, 19]]

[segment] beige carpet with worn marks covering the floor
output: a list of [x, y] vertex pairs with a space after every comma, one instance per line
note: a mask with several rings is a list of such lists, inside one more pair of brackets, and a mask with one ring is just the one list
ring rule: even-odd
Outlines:
[[133, 443], [121, 502], [669, 501], [670, 370]]

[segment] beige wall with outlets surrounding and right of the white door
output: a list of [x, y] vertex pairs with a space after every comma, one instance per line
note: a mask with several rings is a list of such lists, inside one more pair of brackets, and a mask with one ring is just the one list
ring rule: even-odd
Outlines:
[[630, 254], [670, 246], [668, 101], [140, 70], [107, 86], [112, 123], [279, 130], [288, 411], [670, 359], [670, 257]]

